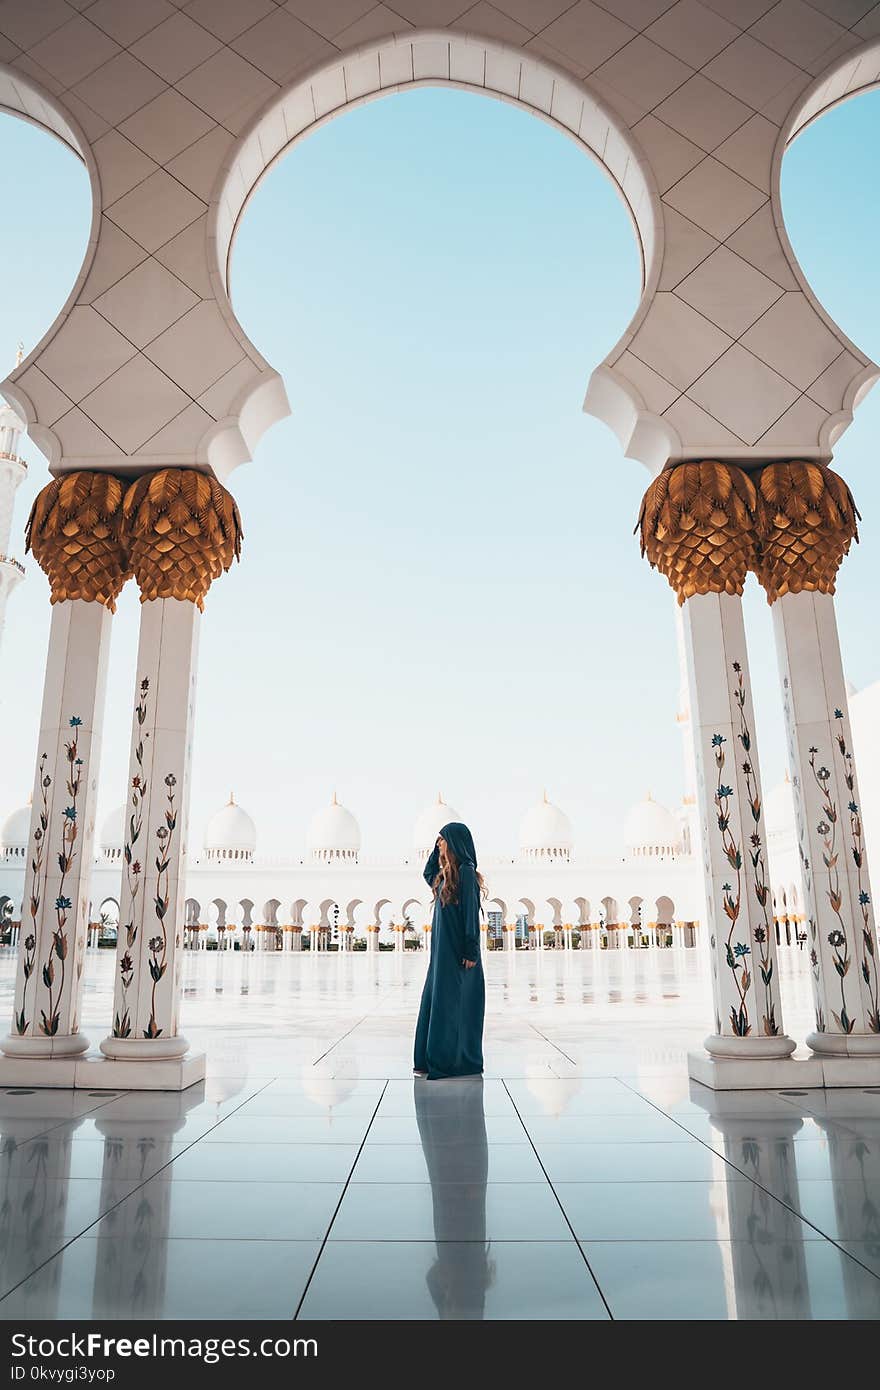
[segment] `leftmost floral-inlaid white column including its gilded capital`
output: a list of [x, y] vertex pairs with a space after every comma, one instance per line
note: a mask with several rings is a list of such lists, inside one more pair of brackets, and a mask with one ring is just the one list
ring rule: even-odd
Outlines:
[[[74, 1056], [89, 917], [110, 613], [125, 580], [120, 542], [122, 485], [110, 474], [70, 473], [38, 495], [28, 541], [51, 584], [51, 628], [22, 905], [13, 1030], [15, 1058]], [[70, 1070], [70, 1068], [68, 1068]], [[4, 1066], [4, 1081], [15, 1077]], [[56, 1069], [51, 1080], [71, 1080]]]

